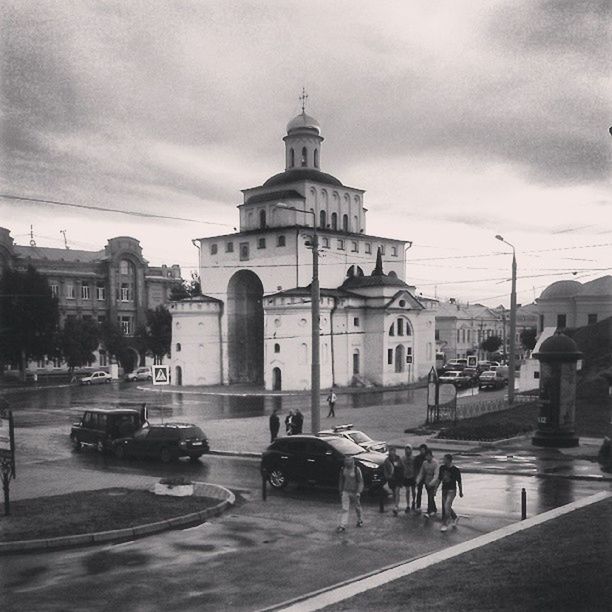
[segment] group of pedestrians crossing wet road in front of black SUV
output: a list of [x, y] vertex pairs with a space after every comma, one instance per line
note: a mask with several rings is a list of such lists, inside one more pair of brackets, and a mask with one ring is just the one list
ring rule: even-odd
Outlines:
[[[393, 515], [400, 513], [402, 493], [405, 495], [405, 514], [420, 514], [423, 489], [427, 494], [426, 519], [433, 519], [438, 508], [436, 494], [442, 488], [442, 526], [440, 531], [447, 531], [449, 520], [452, 526], [457, 526], [457, 514], [453, 510], [453, 501], [459, 492], [463, 497], [461, 471], [453, 465], [453, 456], [444, 455], [440, 465], [426, 444], [419, 446], [419, 452], [413, 455], [412, 446], [407, 444], [403, 455], [399, 455], [395, 447], [389, 448], [389, 455], [383, 464], [387, 485], [393, 495]], [[338, 531], [344, 531], [348, 523], [349, 509], [352, 504], [357, 514], [357, 527], [363, 525], [361, 513], [361, 492], [363, 491], [363, 475], [352, 457], [347, 457], [340, 471], [339, 490], [342, 501], [342, 515]]]

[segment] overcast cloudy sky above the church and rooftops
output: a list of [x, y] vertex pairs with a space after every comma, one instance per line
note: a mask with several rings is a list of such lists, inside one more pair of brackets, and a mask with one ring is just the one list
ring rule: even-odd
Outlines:
[[498, 233], [519, 302], [612, 273], [610, 6], [5, 0], [2, 194], [200, 222], [0, 198], [0, 226], [132, 235], [187, 277], [191, 239], [232, 231], [240, 189], [284, 168], [304, 86], [322, 170], [366, 190], [369, 234], [413, 241], [418, 292], [508, 304]]

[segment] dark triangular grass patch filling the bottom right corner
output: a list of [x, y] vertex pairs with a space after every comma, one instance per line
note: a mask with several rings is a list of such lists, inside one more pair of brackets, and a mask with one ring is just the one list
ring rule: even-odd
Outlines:
[[336, 610], [610, 610], [612, 500], [347, 599]]

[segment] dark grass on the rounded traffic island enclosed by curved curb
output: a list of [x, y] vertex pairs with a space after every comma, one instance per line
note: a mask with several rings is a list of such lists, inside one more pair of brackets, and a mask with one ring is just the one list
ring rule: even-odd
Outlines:
[[10, 516], [0, 516], [0, 541], [135, 527], [198, 512], [217, 503], [218, 499], [207, 497], [170, 497], [123, 488], [24, 499], [11, 502]]

